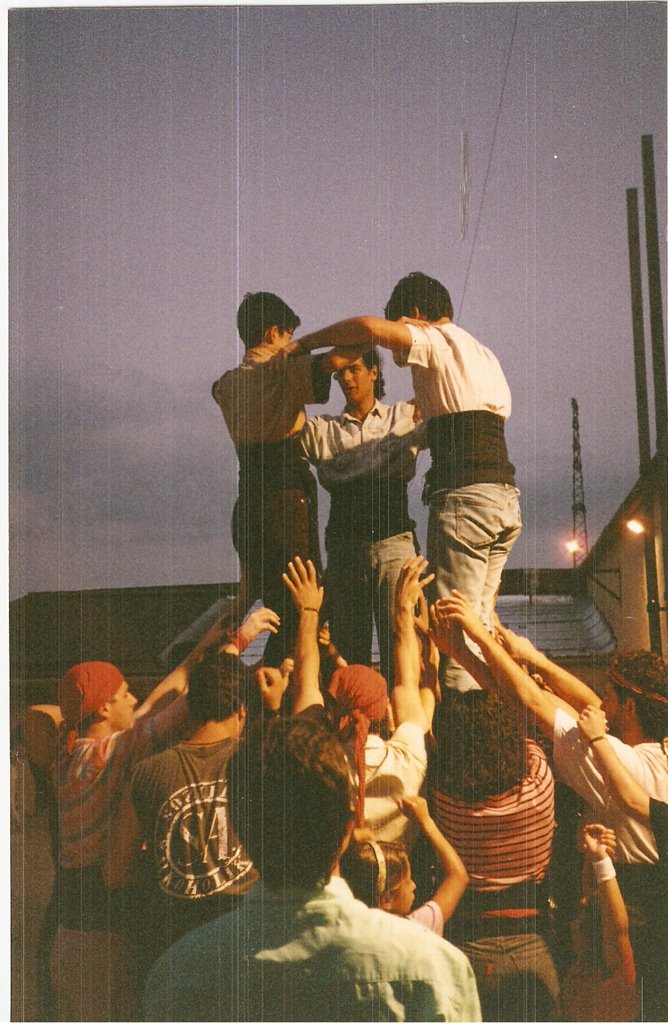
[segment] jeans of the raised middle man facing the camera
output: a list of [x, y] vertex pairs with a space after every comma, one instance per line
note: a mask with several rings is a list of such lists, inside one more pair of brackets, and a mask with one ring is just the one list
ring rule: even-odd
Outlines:
[[382, 541], [328, 537], [325, 614], [332, 642], [349, 665], [371, 665], [373, 621], [380, 671], [391, 687], [394, 675], [394, 590], [402, 565], [415, 558], [413, 534]]

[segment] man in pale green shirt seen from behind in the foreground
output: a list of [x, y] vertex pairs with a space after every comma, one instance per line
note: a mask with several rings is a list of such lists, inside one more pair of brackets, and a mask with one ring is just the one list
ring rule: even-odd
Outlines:
[[145, 1019], [479, 1021], [464, 954], [365, 906], [340, 877], [354, 809], [337, 737], [277, 720], [242, 751], [229, 764], [231, 810], [261, 882], [160, 957]]

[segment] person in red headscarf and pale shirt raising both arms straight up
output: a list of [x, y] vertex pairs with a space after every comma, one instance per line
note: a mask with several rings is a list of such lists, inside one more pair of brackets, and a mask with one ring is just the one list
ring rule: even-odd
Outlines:
[[409, 845], [417, 828], [409, 829], [399, 801], [404, 796], [417, 796], [422, 787], [427, 768], [424, 737], [431, 725], [421, 698], [414, 626], [418, 596], [433, 579], [431, 574], [420, 579], [425, 568], [424, 558], [410, 559], [396, 586], [395, 680], [389, 703], [395, 729], [391, 735], [387, 683], [374, 669], [364, 665], [337, 669], [323, 694], [318, 646], [323, 588], [311, 562], [304, 565], [295, 559], [283, 574], [299, 611], [293, 714], [328, 722], [341, 737], [358, 778], [358, 826], [366, 825], [388, 843], [403, 840], [410, 831]]

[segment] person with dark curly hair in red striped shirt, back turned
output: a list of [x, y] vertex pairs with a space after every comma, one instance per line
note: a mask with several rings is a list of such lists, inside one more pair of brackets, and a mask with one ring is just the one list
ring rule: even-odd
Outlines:
[[524, 1020], [526, 1006], [559, 1017], [542, 934], [554, 780], [525, 728], [519, 709], [482, 690], [446, 689], [434, 725], [432, 813], [470, 879], [445, 934], [470, 959], [484, 1020]]

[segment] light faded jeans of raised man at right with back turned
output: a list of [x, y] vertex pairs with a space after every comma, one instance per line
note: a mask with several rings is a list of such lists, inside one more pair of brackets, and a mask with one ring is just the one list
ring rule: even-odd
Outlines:
[[[510, 549], [521, 531], [519, 492], [507, 483], [474, 483], [435, 494], [429, 506], [427, 558], [439, 597], [458, 590], [492, 630], [494, 597]], [[442, 681], [456, 690], [479, 689], [453, 658]]]

